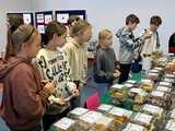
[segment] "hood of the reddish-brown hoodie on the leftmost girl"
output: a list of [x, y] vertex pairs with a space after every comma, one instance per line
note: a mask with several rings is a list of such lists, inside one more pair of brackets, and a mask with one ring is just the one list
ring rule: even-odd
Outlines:
[[0, 81], [19, 63], [24, 60], [20, 58], [10, 58], [8, 61], [0, 60]]

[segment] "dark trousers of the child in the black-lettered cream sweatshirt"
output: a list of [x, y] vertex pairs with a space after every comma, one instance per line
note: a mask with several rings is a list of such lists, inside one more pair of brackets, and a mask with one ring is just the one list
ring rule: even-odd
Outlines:
[[43, 117], [44, 131], [48, 131], [56, 121], [58, 121], [62, 117], [66, 117], [69, 111], [70, 108], [66, 109], [63, 112], [58, 115], [44, 115]]

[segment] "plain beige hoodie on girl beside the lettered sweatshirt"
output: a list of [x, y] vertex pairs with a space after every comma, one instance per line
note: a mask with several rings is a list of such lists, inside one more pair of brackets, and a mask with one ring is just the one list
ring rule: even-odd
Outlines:
[[79, 45], [78, 41], [72, 38], [63, 46], [63, 50], [68, 56], [68, 61], [72, 71], [70, 78], [73, 81], [84, 82], [88, 72], [86, 46]]

